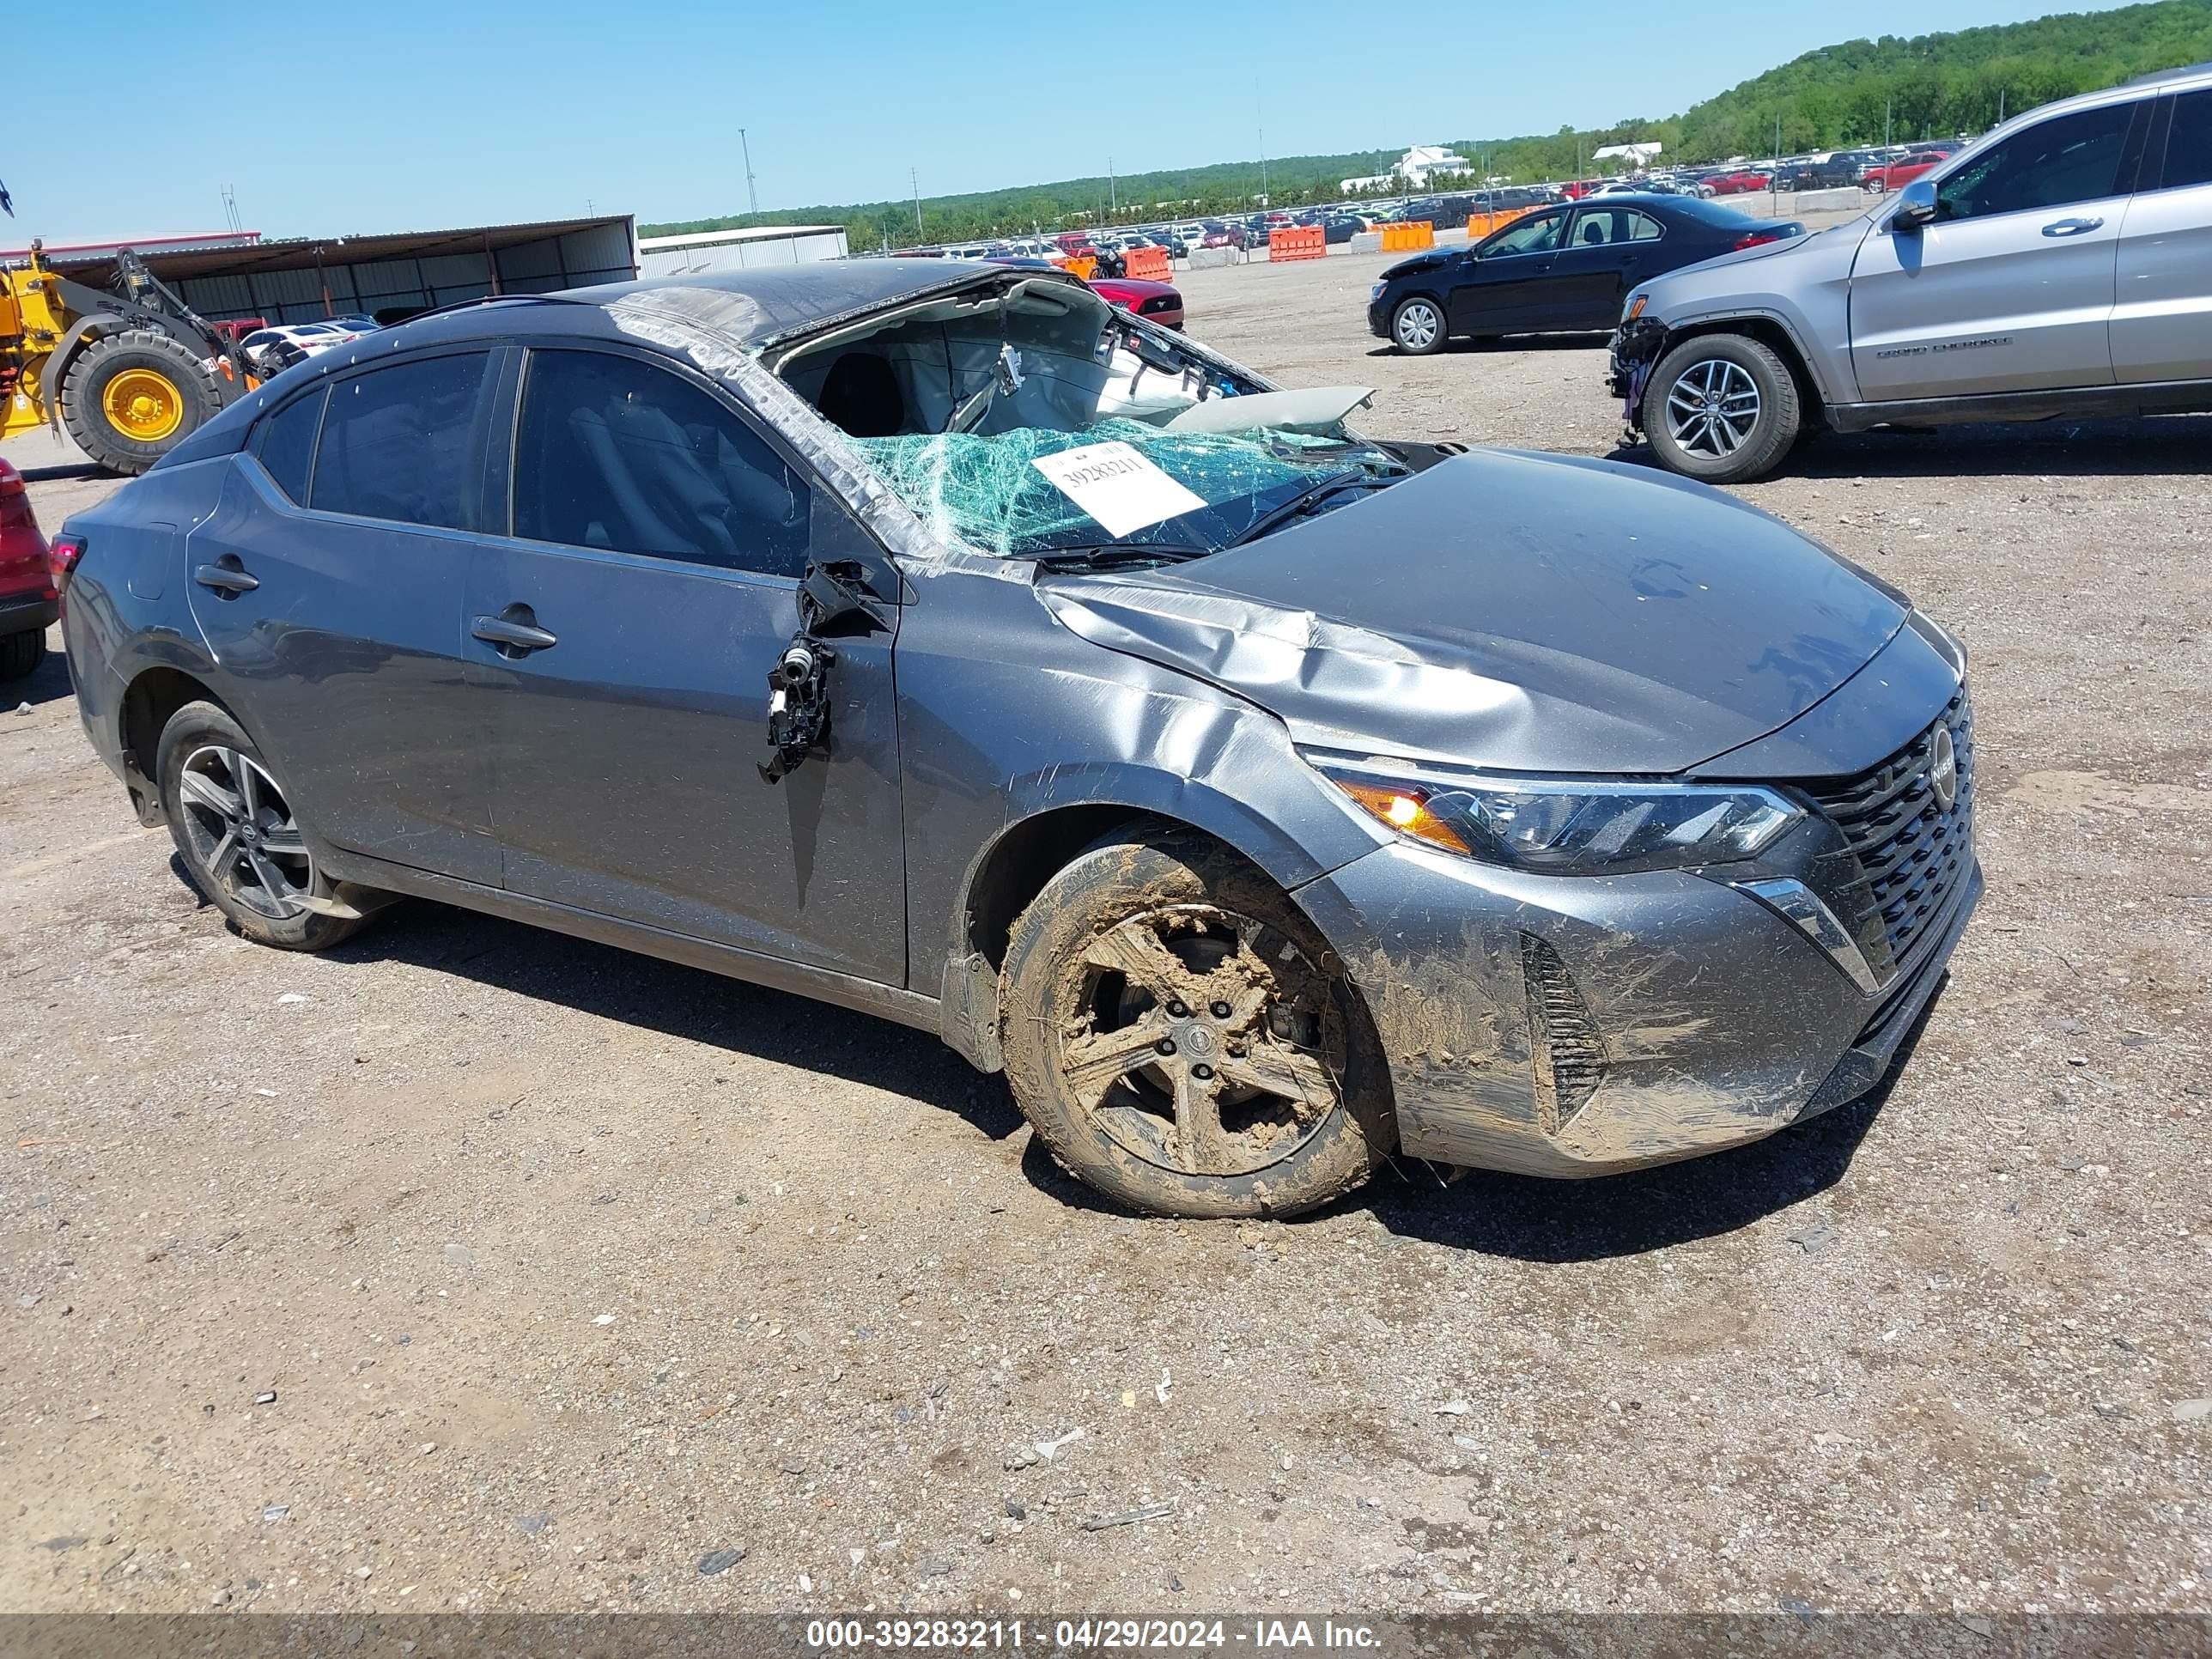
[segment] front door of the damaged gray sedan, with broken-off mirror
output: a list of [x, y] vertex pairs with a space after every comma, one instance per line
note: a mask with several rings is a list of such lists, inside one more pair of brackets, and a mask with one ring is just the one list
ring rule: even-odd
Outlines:
[[836, 639], [827, 757], [759, 772], [810, 551], [874, 546], [703, 380], [529, 354], [467, 602], [511, 891], [905, 984], [889, 633]]

